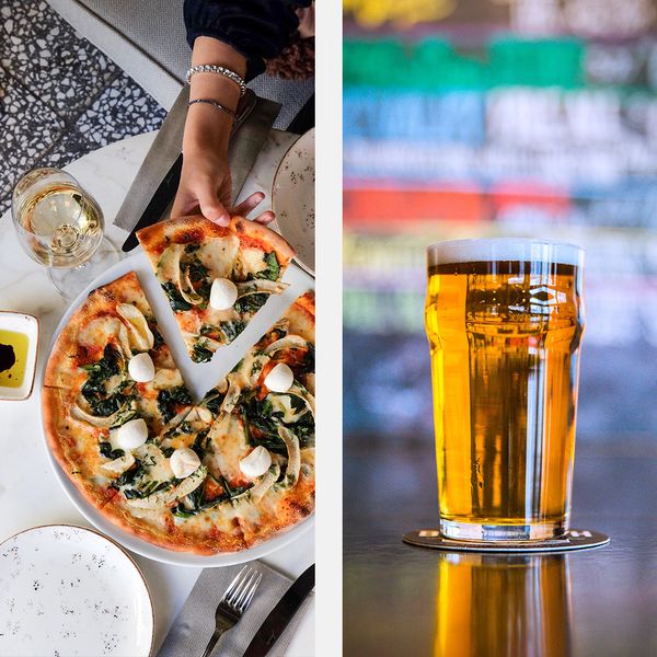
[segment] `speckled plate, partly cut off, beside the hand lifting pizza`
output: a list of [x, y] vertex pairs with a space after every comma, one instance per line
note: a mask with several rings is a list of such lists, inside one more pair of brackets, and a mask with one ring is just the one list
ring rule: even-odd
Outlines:
[[314, 128], [301, 135], [283, 157], [274, 176], [272, 209], [295, 260], [314, 275]]

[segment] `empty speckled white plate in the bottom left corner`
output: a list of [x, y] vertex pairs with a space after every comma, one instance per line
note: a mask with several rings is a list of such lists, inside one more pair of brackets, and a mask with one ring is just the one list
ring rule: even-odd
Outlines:
[[153, 610], [141, 573], [105, 537], [49, 525], [0, 544], [0, 656], [146, 657]]

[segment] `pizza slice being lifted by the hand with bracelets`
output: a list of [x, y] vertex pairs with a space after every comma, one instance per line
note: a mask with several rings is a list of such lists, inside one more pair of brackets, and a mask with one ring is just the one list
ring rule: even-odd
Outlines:
[[244, 331], [295, 255], [276, 232], [233, 217], [221, 227], [205, 217], [161, 221], [137, 232], [195, 362], [207, 362]]

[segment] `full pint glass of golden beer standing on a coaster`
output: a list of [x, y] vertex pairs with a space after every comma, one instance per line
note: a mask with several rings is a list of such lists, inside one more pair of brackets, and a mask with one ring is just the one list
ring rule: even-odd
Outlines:
[[491, 239], [427, 255], [440, 530], [558, 537], [570, 510], [584, 252]]

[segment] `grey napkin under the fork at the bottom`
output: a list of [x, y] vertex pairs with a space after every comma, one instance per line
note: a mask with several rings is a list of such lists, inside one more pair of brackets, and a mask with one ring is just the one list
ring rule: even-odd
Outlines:
[[[278, 600], [291, 586], [292, 580], [269, 568], [261, 562], [252, 562], [263, 578], [257, 587], [253, 602], [240, 620], [220, 639], [212, 657], [242, 657], [251, 639], [274, 609]], [[199, 657], [215, 631], [215, 610], [223, 592], [244, 564], [226, 568], [206, 568], [203, 570], [181, 613], [158, 653], [158, 657]], [[285, 629], [269, 652], [272, 657], [286, 654], [295, 632], [308, 610], [314, 596], [311, 592], [303, 601], [290, 624]]]

